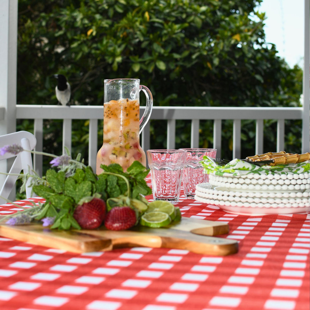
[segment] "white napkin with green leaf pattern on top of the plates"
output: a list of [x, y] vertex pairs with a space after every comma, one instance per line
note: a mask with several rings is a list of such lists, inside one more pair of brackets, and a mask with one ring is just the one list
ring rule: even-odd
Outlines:
[[200, 162], [204, 167], [204, 172], [207, 174], [221, 175], [221, 176], [237, 176], [255, 173], [263, 174], [300, 174], [310, 170], [310, 161], [299, 162], [297, 164], [286, 164], [277, 166], [255, 166], [240, 159], [233, 159], [225, 166], [217, 165], [212, 158], [208, 156], [203, 157]]

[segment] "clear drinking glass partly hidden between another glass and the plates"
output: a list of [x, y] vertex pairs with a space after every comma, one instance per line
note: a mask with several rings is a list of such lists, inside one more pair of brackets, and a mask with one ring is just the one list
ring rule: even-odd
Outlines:
[[214, 148], [182, 148], [186, 151], [183, 170], [183, 187], [185, 198], [195, 199], [196, 184], [209, 182], [209, 175], [204, 173], [201, 161], [204, 156], [216, 157]]

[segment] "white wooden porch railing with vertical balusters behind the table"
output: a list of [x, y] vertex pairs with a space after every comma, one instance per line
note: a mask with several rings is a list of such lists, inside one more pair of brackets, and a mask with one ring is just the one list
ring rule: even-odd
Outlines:
[[[140, 114], [144, 107], [140, 107]], [[0, 108], [0, 120], [3, 119], [3, 110]], [[1, 117], [2, 116], [2, 117]], [[34, 135], [37, 138], [37, 151], [43, 148], [43, 119], [63, 120], [63, 146], [71, 150], [71, 125], [74, 119], [89, 120], [89, 165], [95, 170], [96, 155], [101, 145], [97, 145], [98, 120], [103, 117], [103, 106], [71, 106], [57, 105], [17, 105], [16, 119], [34, 120]], [[304, 119], [303, 108], [241, 108], [241, 107], [153, 107], [151, 119], [167, 120], [167, 148], [175, 148], [175, 121], [191, 120], [190, 147], [198, 147], [199, 121], [213, 120], [213, 146], [221, 152], [222, 120], [233, 120], [233, 158], [240, 158], [241, 154], [241, 120], [255, 120], [256, 138], [255, 153], [263, 153], [263, 121], [277, 120], [277, 151], [284, 149], [284, 121], [287, 119]], [[308, 123], [309, 129], [309, 123]], [[309, 131], [302, 133], [303, 139], [309, 137]], [[309, 138], [308, 138], [309, 140]], [[142, 131], [140, 141], [144, 150], [152, 148], [150, 143], [149, 122]], [[309, 152], [309, 144], [303, 150]], [[42, 175], [42, 156], [34, 156], [34, 169]]]

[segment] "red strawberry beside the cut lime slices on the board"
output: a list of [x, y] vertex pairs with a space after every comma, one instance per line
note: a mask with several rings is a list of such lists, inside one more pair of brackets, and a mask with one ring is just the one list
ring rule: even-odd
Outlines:
[[110, 230], [125, 230], [134, 226], [136, 221], [135, 211], [131, 207], [113, 207], [107, 213], [104, 225]]

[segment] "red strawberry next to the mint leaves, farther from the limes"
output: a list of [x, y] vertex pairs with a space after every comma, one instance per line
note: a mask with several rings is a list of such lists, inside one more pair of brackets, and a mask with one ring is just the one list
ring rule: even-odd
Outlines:
[[98, 228], [105, 218], [106, 204], [104, 200], [96, 197], [91, 198], [91, 200], [84, 200], [82, 203], [80, 201], [73, 213], [73, 217], [84, 229]]

